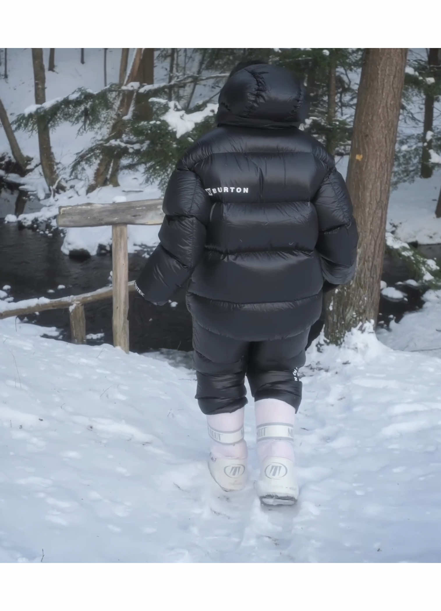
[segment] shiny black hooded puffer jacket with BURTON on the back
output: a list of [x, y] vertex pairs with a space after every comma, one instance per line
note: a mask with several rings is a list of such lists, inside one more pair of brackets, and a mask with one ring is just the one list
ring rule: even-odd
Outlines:
[[136, 281], [144, 298], [164, 302], [191, 277], [187, 307], [201, 326], [261, 341], [311, 326], [324, 279], [352, 279], [352, 204], [332, 157], [297, 127], [304, 97], [273, 65], [228, 79], [218, 127], [169, 180], [160, 245]]

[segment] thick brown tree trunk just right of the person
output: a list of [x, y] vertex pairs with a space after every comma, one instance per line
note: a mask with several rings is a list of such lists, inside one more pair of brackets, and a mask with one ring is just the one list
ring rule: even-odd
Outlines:
[[347, 172], [360, 234], [358, 268], [349, 285], [327, 296], [332, 308], [325, 337], [331, 343], [343, 342], [359, 323], [376, 324], [406, 56], [407, 49], [365, 49]]

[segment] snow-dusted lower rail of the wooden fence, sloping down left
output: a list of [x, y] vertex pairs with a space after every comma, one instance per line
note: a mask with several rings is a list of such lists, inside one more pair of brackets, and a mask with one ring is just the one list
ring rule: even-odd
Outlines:
[[[128, 283], [128, 291], [135, 290], [135, 282]], [[34, 314], [35, 312], [43, 312], [44, 310], [58, 310], [68, 308], [74, 303], [87, 304], [92, 301], [100, 301], [100, 299], [109, 299], [113, 295], [112, 287], [98, 288], [91, 293], [83, 293], [82, 295], [71, 295], [69, 297], [61, 297], [60, 299], [24, 299], [16, 303], [5, 303], [0, 301], [0, 320], [9, 316], [24, 316], [26, 314]], [[13, 307], [12, 307], [13, 306]], [[3, 309], [2, 309], [3, 308]]]

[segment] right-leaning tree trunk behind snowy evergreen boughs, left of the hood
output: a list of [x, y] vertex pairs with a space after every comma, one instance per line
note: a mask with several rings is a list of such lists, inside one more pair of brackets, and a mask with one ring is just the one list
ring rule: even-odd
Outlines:
[[[141, 62], [141, 51], [142, 49], [140, 48], [136, 49], [135, 57], [133, 58], [132, 67], [130, 68], [130, 73], [128, 74], [127, 78], [125, 79], [125, 84], [127, 84], [128, 82], [134, 81], [135, 75], [138, 74], [139, 63]], [[121, 98], [120, 98], [120, 101], [117, 107], [117, 111], [115, 114], [115, 118], [114, 118], [114, 121], [110, 129], [110, 133], [109, 133], [109, 137], [111, 137], [114, 140], [118, 140], [124, 133], [123, 117], [125, 117], [125, 115], [127, 115], [128, 111], [130, 110], [130, 104], [132, 104], [132, 100], [133, 100], [133, 93], [134, 93], [133, 91], [122, 92], [122, 95], [121, 95]], [[111, 168], [113, 158], [114, 158], [114, 155], [112, 155], [111, 153], [103, 152], [100, 158], [100, 161], [98, 162], [97, 169], [95, 170], [94, 180], [87, 188], [87, 193], [90, 193], [91, 191], [94, 191], [98, 187], [102, 187], [105, 184], [106, 178], [109, 175], [109, 170]], [[115, 169], [112, 172], [114, 185], [117, 185], [117, 180], [115, 179], [115, 177], [117, 175], [118, 167], [119, 167], [119, 162], [117, 163], [117, 166], [115, 167]]]

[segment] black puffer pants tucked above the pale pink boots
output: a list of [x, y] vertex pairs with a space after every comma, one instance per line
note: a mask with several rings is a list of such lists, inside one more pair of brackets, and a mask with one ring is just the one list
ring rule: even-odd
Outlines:
[[254, 400], [276, 398], [297, 412], [302, 382], [297, 369], [305, 364], [309, 329], [299, 335], [246, 342], [208, 331], [193, 318], [193, 365], [196, 399], [204, 414], [234, 412], [246, 400], [245, 375]]

